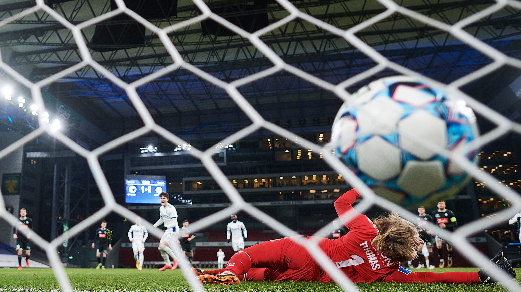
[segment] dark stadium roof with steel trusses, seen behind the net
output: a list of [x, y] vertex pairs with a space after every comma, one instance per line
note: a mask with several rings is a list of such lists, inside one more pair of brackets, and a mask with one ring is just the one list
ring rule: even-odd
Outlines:
[[[201, 15], [201, 10], [190, 0], [125, 0], [125, 3], [158, 28], [187, 24], [168, 33], [170, 41], [187, 64], [221, 81], [230, 83], [274, 67], [246, 37], [209, 19], [188, 23]], [[205, 3], [216, 14], [246, 31], [255, 32], [280, 22], [277, 28], [260, 35], [262, 42], [287, 64], [331, 84], [341, 83], [378, 65], [344, 37], [300, 17], [290, 20], [290, 11], [275, 0], [208, 0]], [[359, 40], [392, 62], [443, 83], [460, 79], [493, 62], [473, 46], [429, 23], [400, 12], [383, 15], [388, 7], [376, 0], [295, 0], [291, 3], [305, 14], [341, 30], [381, 16], [355, 32]], [[452, 25], [478, 11], [491, 9], [496, 2], [404, 0], [396, 3]], [[117, 8], [111, 0], [47, 0], [46, 4], [72, 24], [80, 24]], [[33, 6], [34, 0], [2, 1], [0, 19]], [[519, 58], [520, 17], [516, 7], [492, 9], [489, 14], [467, 23], [464, 30], [507, 56]], [[127, 83], [174, 63], [158, 35], [126, 15], [85, 27], [82, 35], [92, 58]], [[0, 27], [0, 53], [6, 64], [33, 82], [82, 60], [71, 31], [41, 9]], [[181, 115], [193, 118], [211, 111], [240, 111], [225, 90], [190, 68], [174, 69], [138, 87], [139, 96], [158, 124]], [[507, 70], [508, 82], [519, 75], [517, 69], [514, 74], [508, 71], [510, 69], [502, 70]], [[396, 72], [390, 69], [382, 70], [370, 79], [354, 83], [349, 90], [352, 92], [373, 79], [394, 74]], [[503, 75], [500, 79], [506, 82]], [[486, 81], [474, 83], [473, 86], [480, 86], [477, 92], [507, 85], [498, 85], [498, 80], [493, 78]], [[123, 121], [115, 127], [128, 132], [125, 128], [139, 120], [126, 92], [90, 66], [72, 72], [44, 89], [102, 130], [105, 130], [104, 125]], [[495, 88], [495, 92], [500, 89]], [[275, 70], [239, 86], [238, 90], [252, 105], [265, 110], [338, 106], [341, 103], [330, 91], [287, 70]], [[491, 103], [492, 97], [488, 97], [489, 100], [477, 98]], [[295, 118], [301, 117], [302, 112], [288, 111], [283, 115]]]

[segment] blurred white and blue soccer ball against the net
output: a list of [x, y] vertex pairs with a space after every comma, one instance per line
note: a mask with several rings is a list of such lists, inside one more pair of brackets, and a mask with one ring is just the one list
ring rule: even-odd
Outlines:
[[418, 138], [441, 149], [467, 151], [477, 163], [477, 150], [466, 147], [478, 135], [476, 116], [465, 101], [417, 78], [394, 76], [362, 87], [342, 105], [331, 143], [335, 156], [377, 195], [411, 209], [436, 205], [470, 179]]

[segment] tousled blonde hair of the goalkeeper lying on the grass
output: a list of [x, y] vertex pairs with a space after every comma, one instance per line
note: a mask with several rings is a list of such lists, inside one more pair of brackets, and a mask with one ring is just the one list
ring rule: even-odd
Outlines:
[[416, 226], [401, 218], [392, 211], [373, 219], [378, 227], [378, 235], [373, 239], [373, 245], [378, 251], [393, 261], [410, 261], [418, 257], [418, 230]]

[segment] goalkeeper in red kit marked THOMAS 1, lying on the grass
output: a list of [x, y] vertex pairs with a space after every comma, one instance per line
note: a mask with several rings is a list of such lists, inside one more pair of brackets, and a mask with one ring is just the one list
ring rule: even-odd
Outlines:
[[[346, 192], [334, 207], [342, 215], [353, 210], [353, 202], [360, 195], [355, 189]], [[353, 210], [354, 211], [354, 210]], [[356, 211], [355, 211], [356, 212]], [[343, 222], [350, 232], [339, 239], [320, 239], [319, 247], [331, 261], [354, 283], [494, 283], [488, 271], [479, 272], [412, 272], [399, 265], [415, 259], [423, 242], [414, 224], [392, 212], [370, 221], [366, 215], [355, 213], [352, 220]], [[329, 276], [313, 260], [307, 250], [293, 239], [280, 238], [241, 250], [228, 261], [224, 269], [195, 270], [203, 284], [238, 284], [242, 281], [315, 281], [330, 282]], [[502, 252], [494, 256], [493, 264], [511, 278], [515, 270], [503, 258]], [[252, 269], [265, 268], [265, 269]], [[240, 280], [239, 280], [240, 279]]]

